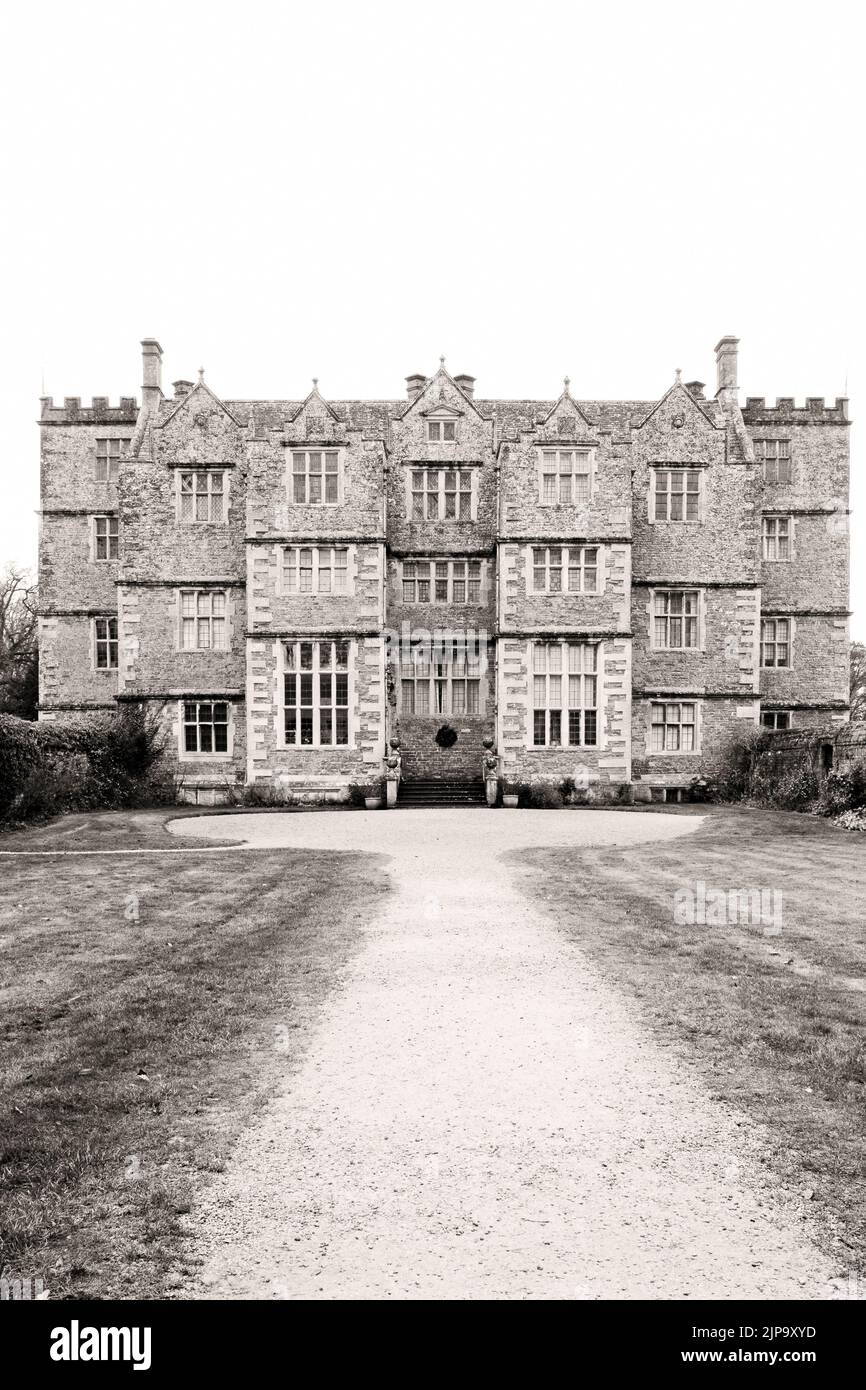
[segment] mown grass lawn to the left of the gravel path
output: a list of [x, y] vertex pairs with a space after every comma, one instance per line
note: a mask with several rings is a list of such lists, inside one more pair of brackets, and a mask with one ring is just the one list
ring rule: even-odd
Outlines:
[[297, 1065], [386, 891], [375, 856], [215, 853], [170, 835], [177, 815], [0, 838], [158, 851], [0, 859], [0, 1273], [51, 1298], [183, 1295], [178, 1218]]

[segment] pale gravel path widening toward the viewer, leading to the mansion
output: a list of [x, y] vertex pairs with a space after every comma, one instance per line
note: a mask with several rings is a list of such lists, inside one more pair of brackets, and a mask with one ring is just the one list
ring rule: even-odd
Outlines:
[[[698, 817], [239, 815], [257, 845], [388, 853], [284, 1091], [189, 1220], [202, 1297], [827, 1297], [745, 1127], [513, 883], [520, 847], [687, 835]], [[224, 817], [175, 823], [225, 835]]]

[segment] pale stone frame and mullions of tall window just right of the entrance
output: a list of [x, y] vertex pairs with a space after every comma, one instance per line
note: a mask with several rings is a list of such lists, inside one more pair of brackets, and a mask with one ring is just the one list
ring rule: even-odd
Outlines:
[[[545, 653], [546, 653], [545, 655], [545, 669], [544, 669], [544, 671], [542, 670], [537, 670], [537, 667], [539, 664], [538, 660], [537, 660], [537, 649], [538, 648], [544, 648]], [[552, 648], [559, 649], [559, 652], [560, 652], [559, 670], [550, 670], [549, 651]], [[570, 669], [571, 667], [571, 657], [569, 655], [569, 648], [578, 648], [580, 649], [580, 653], [581, 653], [581, 656], [580, 656], [580, 670], [577, 670], [577, 671], [574, 671], [574, 670]], [[592, 651], [594, 652], [594, 666], [589, 670], [587, 669], [587, 659], [584, 656], [584, 651]], [[601, 721], [601, 713], [602, 713], [602, 710], [605, 708], [605, 664], [603, 664], [603, 660], [605, 660], [605, 646], [603, 646], [603, 642], [601, 642], [601, 641], [592, 641], [592, 639], [582, 641], [582, 639], [578, 639], [578, 638], [553, 638], [553, 639], [534, 638], [532, 641], [527, 642], [527, 676], [528, 676], [527, 751], [528, 752], [542, 752], [542, 751], [544, 752], [563, 752], [563, 751], [570, 749], [570, 748], [594, 748], [594, 749], [598, 751], [598, 749], [602, 749], [605, 746], [603, 745], [603, 738], [602, 738], [602, 721]], [[559, 678], [559, 681], [560, 681], [560, 685], [559, 685], [560, 702], [559, 702], [557, 706], [553, 706], [550, 703], [550, 678], [553, 678], [553, 680]], [[535, 701], [537, 701], [537, 680], [544, 680], [544, 682], [545, 682], [544, 705], [537, 705], [535, 703]], [[571, 681], [573, 680], [580, 681], [580, 703], [577, 703], [577, 705], [571, 703], [571, 689], [573, 689]], [[587, 696], [587, 681], [588, 680], [592, 680], [595, 682], [594, 684], [595, 701], [592, 703], [588, 703], [587, 699], [585, 699], [585, 696]], [[550, 742], [552, 728], [555, 727], [553, 721], [550, 719], [552, 713], [559, 713], [559, 716], [560, 716], [559, 717], [559, 741], [557, 742]], [[571, 737], [570, 737], [571, 735], [571, 728], [573, 728], [573, 721], [571, 721], [571, 714], [573, 713], [578, 714], [580, 742], [573, 742]], [[588, 742], [587, 738], [585, 738], [587, 728], [588, 728], [587, 714], [589, 714], [589, 713], [595, 714], [594, 727], [592, 727], [594, 741], [591, 741], [591, 742]], [[538, 728], [538, 714], [544, 714], [545, 737], [544, 737], [542, 742], [537, 742], [535, 741], [537, 739], [537, 728]], [[564, 720], [562, 717], [563, 714], [566, 716]], [[566, 734], [564, 739], [563, 739], [563, 734]]]

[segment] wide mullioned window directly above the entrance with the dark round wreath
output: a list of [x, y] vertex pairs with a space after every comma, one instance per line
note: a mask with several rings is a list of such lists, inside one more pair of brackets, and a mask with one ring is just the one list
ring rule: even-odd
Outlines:
[[[484, 680], [488, 673], [488, 651], [478, 645], [473, 653], [470, 651], [468, 634], [461, 639], [457, 635], [446, 637], [431, 644], [418, 644], [403, 652], [399, 663], [399, 712], [410, 719], [480, 719], [487, 714], [488, 688]], [[448, 646], [448, 652], [443, 649]], [[442, 660], [436, 660], [441, 656]], [[425, 691], [421, 703], [427, 709], [418, 709], [418, 688]], [[411, 689], [411, 701], [406, 701], [406, 692]], [[457, 698], [457, 692], [459, 698]], [[411, 703], [411, 709], [406, 705]], [[474, 705], [474, 709], [470, 706]], [[460, 708], [461, 706], [461, 708]]]

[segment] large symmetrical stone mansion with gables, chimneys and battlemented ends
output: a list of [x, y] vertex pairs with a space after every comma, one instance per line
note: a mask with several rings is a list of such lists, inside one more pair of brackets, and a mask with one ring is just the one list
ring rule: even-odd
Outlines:
[[[42, 400], [40, 717], [158, 709], [179, 795], [683, 788], [848, 717], [848, 410], [717, 386]], [[398, 742], [399, 741], [399, 742]], [[626, 790], [626, 791], [624, 791]]]

